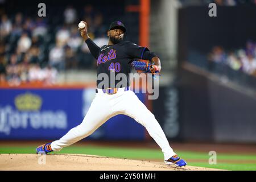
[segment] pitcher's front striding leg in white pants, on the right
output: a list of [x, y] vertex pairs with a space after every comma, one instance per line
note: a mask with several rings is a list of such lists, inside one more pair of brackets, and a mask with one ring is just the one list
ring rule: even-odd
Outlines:
[[141, 123], [146, 127], [150, 136], [155, 140], [155, 142], [162, 148], [164, 154], [164, 160], [170, 159], [176, 153], [170, 147], [170, 144], [164, 134], [158, 121], [156, 121], [154, 114], [139, 100], [139, 98], [132, 91], [127, 91], [129, 93], [129, 102], [133, 104], [132, 107], [127, 107], [125, 114], [134, 118], [135, 121]]

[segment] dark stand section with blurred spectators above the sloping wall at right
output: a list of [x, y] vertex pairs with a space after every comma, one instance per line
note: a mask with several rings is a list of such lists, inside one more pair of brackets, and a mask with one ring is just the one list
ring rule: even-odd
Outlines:
[[[205, 16], [209, 2], [217, 17]], [[223, 82], [256, 89], [256, 1], [183, 1], [179, 17], [179, 58]], [[202, 5], [203, 4], [203, 5]], [[208, 8], [209, 10], [209, 8]], [[187, 11], [187, 15], [183, 13]]]

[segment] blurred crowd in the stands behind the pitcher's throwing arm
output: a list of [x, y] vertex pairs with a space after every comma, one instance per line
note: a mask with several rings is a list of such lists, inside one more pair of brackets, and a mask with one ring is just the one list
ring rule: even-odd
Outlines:
[[63, 21], [53, 24], [48, 18], [37, 15], [1, 11], [1, 82], [8, 81], [10, 85], [19, 85], [22, 81], [54, 84], [59, 71], [96, 66], [77, 30], [77, 22], [84, 19], [89, 26], [89, 36], [98, 46], [103, 46], [108, 41], [108, 27], [103, 23], [102, 13], [87, 5], [79, 10], [67, 6], [61, 14]]

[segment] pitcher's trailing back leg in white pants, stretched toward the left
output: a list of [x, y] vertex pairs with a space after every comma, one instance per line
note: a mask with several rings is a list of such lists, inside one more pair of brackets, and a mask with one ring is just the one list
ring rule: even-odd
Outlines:
[[71, 144], [88, 137], [96, 129], [98, 129], [98, 127], [103, 125], [110, 117], [112, 117], [111, 114], [112, 112], [110, 110], [110, 106], [105, 100], [105, 97], [97, 94], [82, 123], [79, 126], [69, 130], [68, 133], [59, 140], [52, 142], [52, 150], [60, 151], [63, 147], [70, 146]]

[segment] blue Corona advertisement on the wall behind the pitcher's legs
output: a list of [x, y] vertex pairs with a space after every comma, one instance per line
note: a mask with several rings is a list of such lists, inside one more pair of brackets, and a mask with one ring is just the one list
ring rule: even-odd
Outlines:
[[[94, 96], [95, 89], [0, 89], [0, 139], [59, 139], [80, 125]], [[144, 138], [144, 127], [134, 119], [109, 120], [88, 138]]]

